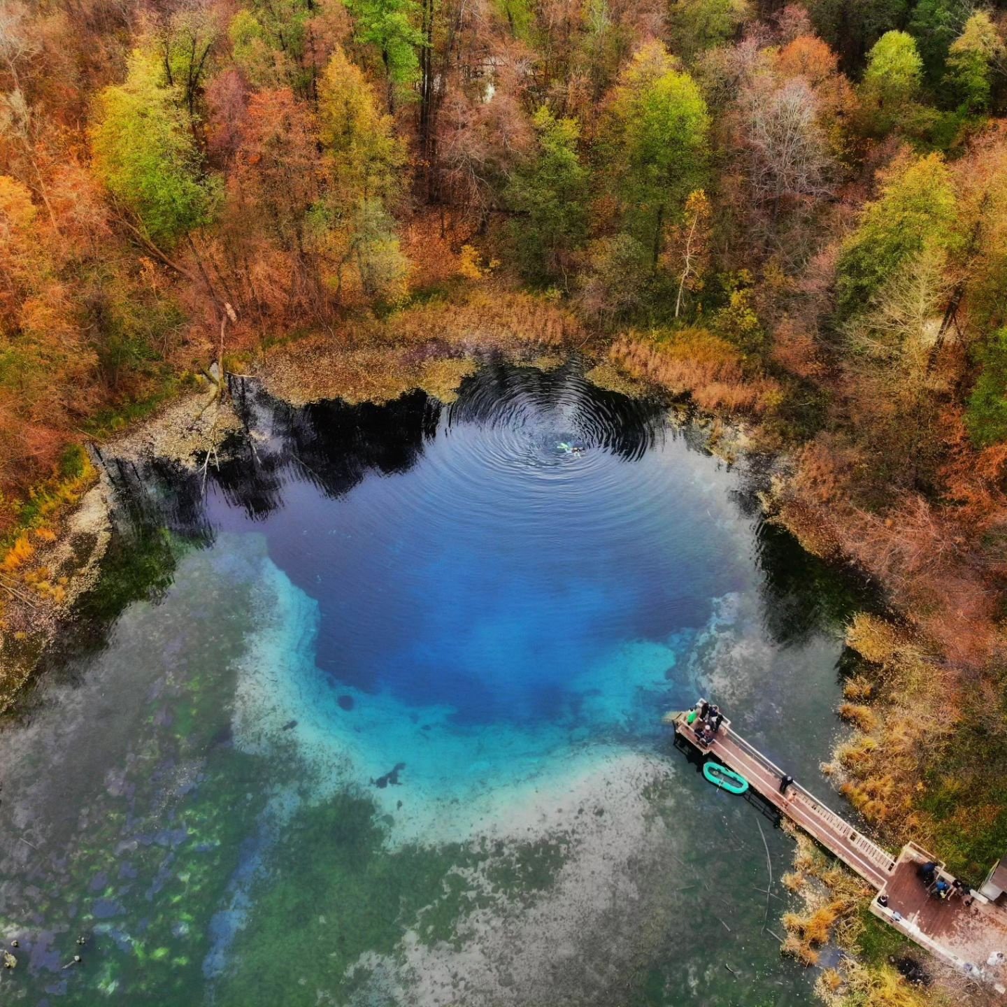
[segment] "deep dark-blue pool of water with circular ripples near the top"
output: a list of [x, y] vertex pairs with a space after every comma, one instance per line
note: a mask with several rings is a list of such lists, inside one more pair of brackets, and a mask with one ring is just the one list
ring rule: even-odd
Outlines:
[[663, 410], [606, 409], [570, 373], [509, 378], [469, 381], [409, 467], [335, 497], [287, 484], [264, 520], [211, 508], [218, 528], [264, 534], [318, 602], [333, 682], [449, 706], [459, 725], [571, 717], [599, 660], [701, 627], [744, 586], [723, 473], [688, 463]]

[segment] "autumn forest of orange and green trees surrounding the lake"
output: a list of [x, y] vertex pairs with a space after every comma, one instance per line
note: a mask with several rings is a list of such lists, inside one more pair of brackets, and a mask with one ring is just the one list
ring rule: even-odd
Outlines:
[[447, 400], [478, 349], [577, 347], [785, 459], [767, 507], [897, 613], [849, 627], [841, 788], [980, 881], [1007, 851], [1000, 8], [0, 0], [0, 602], [63, 603], [82, 445], [213, 361], [295, 402]]

